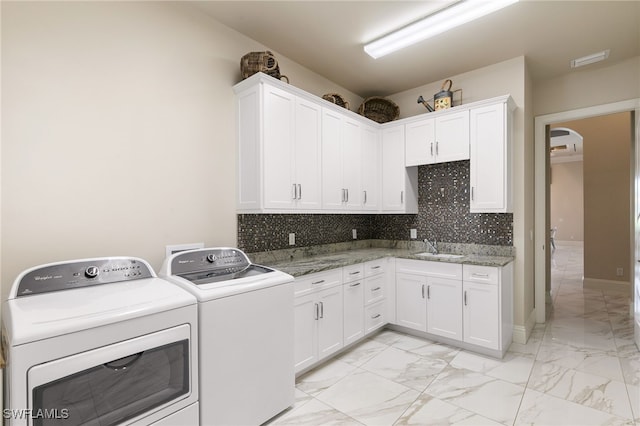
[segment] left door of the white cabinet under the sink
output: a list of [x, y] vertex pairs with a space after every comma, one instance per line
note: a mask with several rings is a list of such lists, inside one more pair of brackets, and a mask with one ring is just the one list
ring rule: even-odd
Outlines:
[[396, 274], [396, 324], [427, 331], [425, 277]]

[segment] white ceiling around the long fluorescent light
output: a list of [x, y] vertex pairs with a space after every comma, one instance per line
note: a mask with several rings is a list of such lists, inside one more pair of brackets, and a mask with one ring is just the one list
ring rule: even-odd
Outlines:
[[387, 96], [521, 55], [534, 81], [579, 72], [569, 61], [605, 49], [609, 59], [590, 69], [640, 56], [640, 0], [521, 0], [380, 59], [369, 57], [364, 43], [447, 1], [191, 3], [361, 97]]

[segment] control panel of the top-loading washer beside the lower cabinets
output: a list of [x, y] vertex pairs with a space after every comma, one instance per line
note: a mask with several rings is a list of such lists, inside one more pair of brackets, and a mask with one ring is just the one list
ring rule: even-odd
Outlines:
[[241, 250], [234, 248], [209, 248], [177, 253], [171, 260], [171, 275], [210, 270], [236, 270], [251, 265]]

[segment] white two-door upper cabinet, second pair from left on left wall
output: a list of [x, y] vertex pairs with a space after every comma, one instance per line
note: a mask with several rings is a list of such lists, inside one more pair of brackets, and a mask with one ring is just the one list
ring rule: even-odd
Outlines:
[[322, 110], [322, 199], [325, 210], [362, 208], [360, 123]]

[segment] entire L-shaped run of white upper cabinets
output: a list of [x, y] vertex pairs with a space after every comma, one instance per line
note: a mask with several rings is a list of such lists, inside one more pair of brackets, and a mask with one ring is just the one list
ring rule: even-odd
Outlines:
[[470, 160], [470, 211], [512, 212], [501, 96], [378, 124], [257, 73], [234, 86], [238, 213], [417, 213], [418, 168]]

